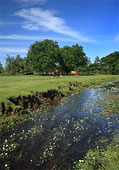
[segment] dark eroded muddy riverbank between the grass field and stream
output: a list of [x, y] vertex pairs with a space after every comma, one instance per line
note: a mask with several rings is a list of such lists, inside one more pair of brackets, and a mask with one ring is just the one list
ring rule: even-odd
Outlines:
[[[58, 90], [48, 90], [47, 92], [32, 92], [31, 95], [9, 97], [8, 100], [11, 105], [7, 105], [5, 102], [1, 103], [2, 115], [10, 116], [15, 114], [28, 114], [33, 110], [39, 109], [41, 106], [47, 106], [57, 104], [64, 96], [69, 96], [74, 89], [80, 86], [79, 82], [69, 82], [69, 86], [58, 86]], [[69, 92], [62, 93], [63, 88], [69, 88]]]

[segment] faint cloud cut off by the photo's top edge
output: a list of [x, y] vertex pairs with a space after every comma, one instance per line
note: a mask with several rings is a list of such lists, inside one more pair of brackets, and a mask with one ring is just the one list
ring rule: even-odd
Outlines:
[[15, 0], [15, 1], [28, 6], [36, 5], [36, 4], [44, 5], [47, 2], [47, 0]]

